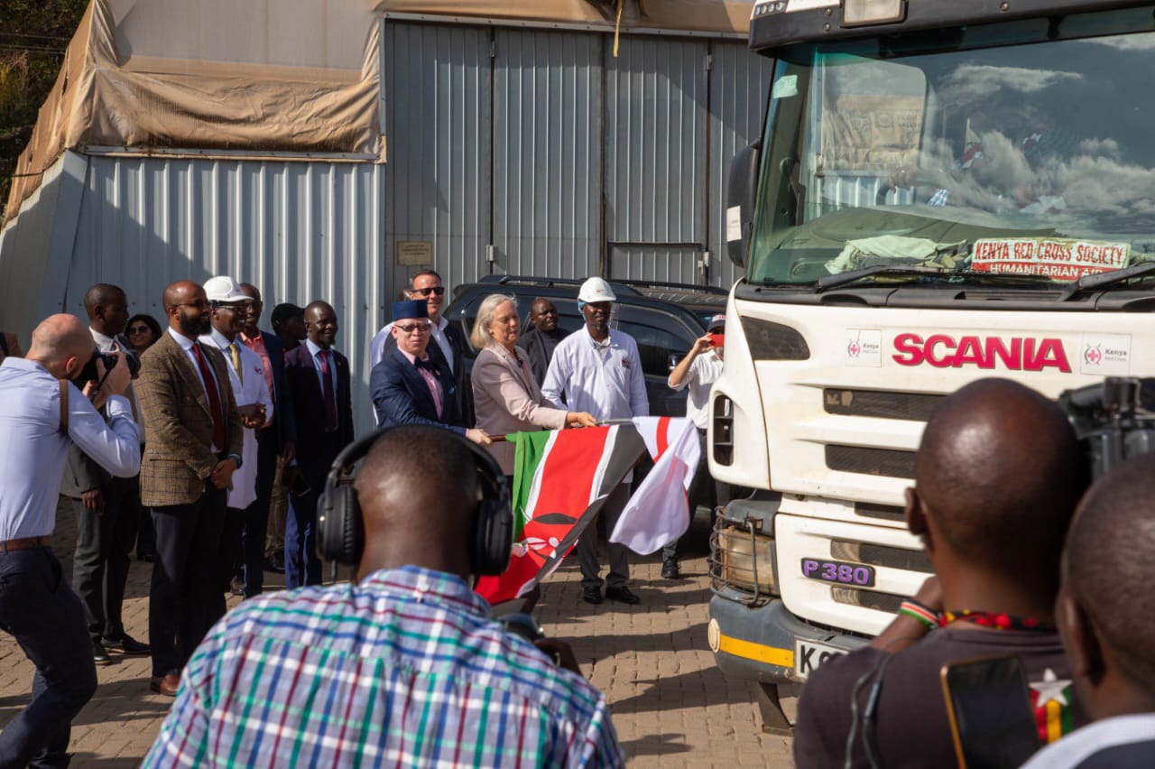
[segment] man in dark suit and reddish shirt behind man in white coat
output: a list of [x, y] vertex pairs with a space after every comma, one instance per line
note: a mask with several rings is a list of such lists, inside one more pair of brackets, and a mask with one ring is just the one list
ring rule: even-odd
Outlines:
[[264, 544], [269, 529], [269, 503], [273, 499], [273, 479], [277, 462], [288, 464], [297, 453], [297, 421], [293, 418], [292, 396], [285, 387], [285, 345], [276, 334], [258, 327], [264, 303], [260, 290], [252, 283], [241, 283], [240, 290], [252, 301], [241, 319], [240, 342], [261, 358], [264, 384], [273, 396], [273, 424], [256, 432], [256, 503], [248, 508], [241, 535], [245, 561], [246, 598], [260, 595], [264, 588]]

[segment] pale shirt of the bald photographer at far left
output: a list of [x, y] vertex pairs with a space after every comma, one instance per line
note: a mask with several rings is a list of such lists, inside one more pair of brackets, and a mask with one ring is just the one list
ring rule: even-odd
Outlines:
[[[57, 525], [57, 499], [68, 447], [76, 443], [119, 478], [141, 469], [141, 445], [128, 401], [107, 400], [109, 421], [68, 384], [68, 434], [60, 433], [60, 386], [40, 364], [0, 364], [0, 540], [46, 537]], [[3, 558], [3, 555], [0, 555]]]

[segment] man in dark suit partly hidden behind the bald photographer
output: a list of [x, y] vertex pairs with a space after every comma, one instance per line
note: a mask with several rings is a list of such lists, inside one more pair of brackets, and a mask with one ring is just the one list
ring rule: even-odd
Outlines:
[[[128, 323], [128, 298], [107, 283], [97, 283], [84, 293], [89, 331], [102, 357], [122, 352], [129, 372], [140, 371], [140, 360], [124, 337]], [[95, 371], [90, 372], [95, 375]], [[132, 383], [125, 391], [141, 445], [143, 420]], [[129, 554], [136, 543], [141, 505], [140, 477], [117, 478], [94, 462], [77, 446], [68, 450], [60, 493], [72, 500], [76, 513], [76, 555], [73, 558], [73, 590], [84, 604], [88, 633], [92, 639], [92, 662], [111, 665], [109, 649], [126, 655], [147, 655], [149, 647], [125, 633], [120, 609], [128, 581]]]

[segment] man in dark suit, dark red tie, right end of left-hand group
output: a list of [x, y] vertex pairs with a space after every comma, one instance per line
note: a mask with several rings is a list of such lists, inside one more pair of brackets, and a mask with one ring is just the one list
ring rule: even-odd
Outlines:
[[337, 313], [323, 301], [305, 307], [305, 344], [285, 353], [285, 381], [297, 424], [297, 466], [304, 493], [293, 493], [285, 522], [285, 585], [321, 584], [316, 500], [329, 465], [353, 440], [349, 360], [333, 349]]

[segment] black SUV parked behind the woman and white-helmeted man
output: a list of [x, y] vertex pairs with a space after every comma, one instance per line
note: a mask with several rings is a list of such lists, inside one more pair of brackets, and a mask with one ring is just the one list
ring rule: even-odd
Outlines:
[[[457, 286], [453, 304], [442, 315], [457, 324], [468, 339], [482, 300], [491, 293], [508, 293], [517, 298], [521, 324], [526, 330], [531, 328], [530, 305], [537, 297], [544, 297], [558, 308], [558, 326], [573, 333], [584, 324], [578, 311], [578, 289], [582, 283], [569, 278], [487, 275], [477, 283]], [[670, 368], [690, 351], [694, 339], [706, 333], [709, 319], [725, 312], [726, 292], [715, 286], [680, 283], [611, 281], [610, 285], [618, 298], [610, 326], [638, 342], [650, 413], [684, 417], [686, 390], [671, 390], [666, 378]], [[467, 375], [477, 352], [470, 348], [465, 353]]]

